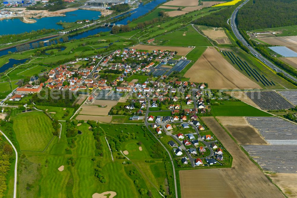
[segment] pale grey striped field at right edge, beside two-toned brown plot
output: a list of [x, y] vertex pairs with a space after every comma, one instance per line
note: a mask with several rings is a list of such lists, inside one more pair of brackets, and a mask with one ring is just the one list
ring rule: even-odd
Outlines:
[[247, 117], [271, 145], [296, 145], [297, 125], [277, 117]]

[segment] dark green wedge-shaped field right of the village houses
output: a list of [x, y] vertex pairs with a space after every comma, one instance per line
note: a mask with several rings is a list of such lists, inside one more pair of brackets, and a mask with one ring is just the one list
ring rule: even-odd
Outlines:
[[270, 114], [241, 101], [218, 102], [219, 105], [211, 105], [214, 116], [271, 116]]

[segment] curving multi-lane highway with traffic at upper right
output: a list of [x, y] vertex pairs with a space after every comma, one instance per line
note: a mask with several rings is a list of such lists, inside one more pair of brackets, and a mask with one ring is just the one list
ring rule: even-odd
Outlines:
[[[241, 41], [241, 43], [243, 45], [245, 45], [247, 48], [249, 48], [249, 51], [256, 56], [257, 59], [259, 59], [261, 62], [263, 62], [263, 64], [267, 65], [268, 67], [272, 68], [274, 71], [276, 72], [281, 72], [283, 73], [285, 76], [287, 76], [288, 78], [290, 78], [293, 81], [297, 82], [296, 76], [291, 76], [289, 73], [285, 72], [284, 70], [282, 70], [281, 68], [277, 67], [276, 65], [274, 65], [272, 62], [270, 62], [269, 60], [267, 60], [266, 58], [264, 58], [263, 56], [259, 56], [259, 52], [257, 52], [254, 48], [252, 48], [247, 41], [241, 36], [241, 34], [239, 33], [237, 27], [236, 27], [236, 23], [235, 23], [235, 19], [236, 19], [236, 15], [238, 10], [248, 2], [244, 1], [242, 4], [240, 4], [232, 13], [231, 18], [230, 18], [230, 25], [232, 28], [233, 33], [235, 34], [236, 38]], [[227, 21], [228, 23], [228, 21]]]

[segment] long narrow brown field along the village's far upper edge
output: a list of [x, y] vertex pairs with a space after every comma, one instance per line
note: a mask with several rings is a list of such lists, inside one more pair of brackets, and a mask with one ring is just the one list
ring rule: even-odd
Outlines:
[[177, 55], [180, 56], [185, 56], [186, 54], [189, 53], [189, 51], [191, 51], [193, 48], [186, 48], [186, 47], [166, 47], [166, 46], [154, 46], [154, 45], [135, 45], [134, 47], [130, 47], [131, 48], [135, 48], [135, 49], [139, 49], [139, 50], [149, 50], [149, 51], [153, 51], [153, 50], [169, 50], [169, 51], [177, 51]]

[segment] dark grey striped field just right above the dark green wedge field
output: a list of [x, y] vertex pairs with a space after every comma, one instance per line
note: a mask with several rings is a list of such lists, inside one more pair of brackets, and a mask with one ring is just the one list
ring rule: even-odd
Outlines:
[[245, 92], [263, 110], [290, 109], [295, 106], [274, 91]]

